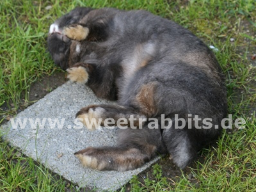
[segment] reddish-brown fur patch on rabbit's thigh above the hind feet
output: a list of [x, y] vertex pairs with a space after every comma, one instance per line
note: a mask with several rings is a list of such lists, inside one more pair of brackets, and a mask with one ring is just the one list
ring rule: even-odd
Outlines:
[[141, 108], [141, 112], [147, 116], [157, 113], [157, 107], [154, 101], [154, 90], [156, 83], [148, 83], [141, 86], [140, 92], [136, 95], [136, 102]]

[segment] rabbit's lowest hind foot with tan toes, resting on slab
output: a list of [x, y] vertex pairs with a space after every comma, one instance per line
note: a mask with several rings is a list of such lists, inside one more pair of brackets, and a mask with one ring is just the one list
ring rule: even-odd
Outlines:
[[75, 156], [83, 166], [97, 170], [118, 170], [124, 172], [140, 167], [156, 152], [156, 146], [145, 145], [142, 150], [138, 148], [94, 148], [88, 147], [79, 150]]

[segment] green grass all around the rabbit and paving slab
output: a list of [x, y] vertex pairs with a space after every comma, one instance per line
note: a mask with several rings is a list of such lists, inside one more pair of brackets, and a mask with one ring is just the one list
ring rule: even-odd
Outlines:
[[[47, 9], [47, 6], [49, 9]], [[51, 7], [49, 7], [51, 6]], [[255, 191], [256, 186], [256, 2], [254, 0], [202, 1], [29, 1], [0, 2], [0, 109], [2, 118], [15, 115], [28, 103], [31, 83], [50, 76], [56, 68], [46, 51], [50, 24], [75, 6], [113, 6], [145, 9], [190, 29], [207, 45], [227, 77], [228, 111], [246, 120], [245, 129], [228, 129], [218, 147], [203, 150], [203, 161], [175, 178], [164, 177], [154, 165], [154, 179], [135, 176], [131, 191]], [[76, 191], [75, 184], [52, 176], [29, 157], [0, 141], [0, 191]], [[120, 191], [127, 190], [127, 187]]]

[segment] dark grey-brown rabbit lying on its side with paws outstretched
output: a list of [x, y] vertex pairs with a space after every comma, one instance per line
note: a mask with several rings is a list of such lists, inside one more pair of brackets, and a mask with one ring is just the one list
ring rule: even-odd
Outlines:
[[76, 117], [89, 129], [109, 118], [125, 127], [115, 147], [76, 152], [84, 166], [124, 172], [170, 154], [184, 169], [220, 136], [225, 76], [207, 45], [179, 24], [144, 10], [79, 7], [51, 25], [47, 45], [70, 81], [116, 101]]

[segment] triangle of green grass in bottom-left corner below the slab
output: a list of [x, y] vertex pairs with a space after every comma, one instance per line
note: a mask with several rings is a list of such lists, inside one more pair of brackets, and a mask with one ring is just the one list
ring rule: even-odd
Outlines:
[[64, 191], [65, 180], [4, 143], [0, 148], [0, 191]]

